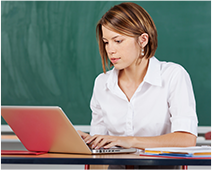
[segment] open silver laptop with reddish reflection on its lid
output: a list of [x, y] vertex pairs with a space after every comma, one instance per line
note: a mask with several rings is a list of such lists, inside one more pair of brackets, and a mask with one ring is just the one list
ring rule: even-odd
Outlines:
[[90, 149], [58, 106], [0, 106], [0, 114], [31, 152], [133, 153], [135, 148]]

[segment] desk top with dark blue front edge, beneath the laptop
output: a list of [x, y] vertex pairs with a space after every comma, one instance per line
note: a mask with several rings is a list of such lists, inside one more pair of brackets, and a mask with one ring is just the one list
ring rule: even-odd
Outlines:
[[0, 155], [0, 164], [102, 164], [102, 165], [212, 165], [211, 159], [174, 159], [138, 154], [77, 155]]

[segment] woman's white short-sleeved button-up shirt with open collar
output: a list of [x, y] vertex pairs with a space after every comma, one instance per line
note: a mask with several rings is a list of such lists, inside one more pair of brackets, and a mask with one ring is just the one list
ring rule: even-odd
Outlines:
[[91, 135], [158, 136], [175, 131], [197, 135], [192, 84], [182, 66], [152, 57], [130, 101], [118, 86], [118, 72], [112, 69], [95, 80]]

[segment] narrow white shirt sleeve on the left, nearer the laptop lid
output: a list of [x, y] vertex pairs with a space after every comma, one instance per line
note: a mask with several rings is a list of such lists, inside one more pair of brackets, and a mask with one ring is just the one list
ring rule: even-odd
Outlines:
[[92, 110], [90, 135], [91, 136], [95, 134], [107, 135], [108, 133], [107, 133], [107, 128], [104, 124], [103, 112], [100, 107], [100, 104], [98, 103], [98, 100], [96, 99], [96, 93], [97, 93], [96, 91], [97, 91], [97, 86], [95, 81], [93, 95], [90, 102], [90, 108]]

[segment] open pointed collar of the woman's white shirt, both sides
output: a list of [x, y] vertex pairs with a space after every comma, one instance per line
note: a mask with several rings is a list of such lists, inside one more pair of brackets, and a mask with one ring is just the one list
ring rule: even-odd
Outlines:
[[[108, 80], [106, 82], [106, 87], [112, 89], [115, 85], [118, 84], [118, 73], [119, 71], [115, 68], [110, 70], [110, 74]], [[144, 77], [144, 82], [147, 82], [152, 85], [161, 86], [161, 72], [160, 72], [160, 61], [158, 61], [155, 57], [149, 59], [149, 65], [147, 69], [147, 73]]]

